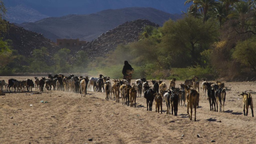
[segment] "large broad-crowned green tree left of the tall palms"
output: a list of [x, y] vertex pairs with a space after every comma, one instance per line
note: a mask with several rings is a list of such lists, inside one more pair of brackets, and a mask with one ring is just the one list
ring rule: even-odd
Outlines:
[[176, 22], [169, 20], [164, 23], [162, 33], [162, 47], [172, 56], [182, 54], [181, 57], [191, 62], [184, 65], [187, 66], [201, 64], [200, 53], [217, 39], [218, 28], [216, 21], [204, 23], [201, 19], [187, 16]]

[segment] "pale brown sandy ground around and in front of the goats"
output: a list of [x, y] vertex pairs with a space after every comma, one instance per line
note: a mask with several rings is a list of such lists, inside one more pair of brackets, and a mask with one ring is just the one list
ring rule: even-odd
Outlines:
[[[28, 77], [0, 79], [8, 82], [9, 78]], [[180, 83], [183, 81], [176, 86]], [[105, 100], [105, 94], [98, 92], [88, 92], [86, 97], [61, 91], [32, 94], [40, 92], [35, 88], [32, 93], [6, 93], [0, 96], [0, 143], [256, 143], [256, 120], [251, 110], [243, 115], [239, 95], [251, 90], [255, 101], [256, 83], [225, 85], [225, 113], [209, 111], [200, 88], [196, 122], [189, 120], [186, 107], [179, 106], [178, 116], [174, 116], [166, 114], [165, 103], [163, 114], [156, 113], [153, 102], [153, 111], [148, 112], [144, 97], [137, 97], [134, 108], [122, 105], [121, 99], [120, 103]]]

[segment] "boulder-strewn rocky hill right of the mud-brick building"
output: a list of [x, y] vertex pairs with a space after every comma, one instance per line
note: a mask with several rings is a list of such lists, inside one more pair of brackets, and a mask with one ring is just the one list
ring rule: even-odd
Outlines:
[[138, 41], [139, 33], [143, 31], [146, 25], [159, 27], [159, 25], [145, 19], [126, 22], [106, 33], [102, 33], [97, 39], [87, 42], [81, 50], [86, 51], [90, 59], [104, 56], [106, 53], [115, 50], [119, 44]]

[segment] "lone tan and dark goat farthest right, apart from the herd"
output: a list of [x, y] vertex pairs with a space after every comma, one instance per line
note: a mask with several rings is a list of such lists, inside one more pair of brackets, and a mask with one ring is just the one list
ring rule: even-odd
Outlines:
[[254, 117], [251, 93], [247, 94], [246, 92], [242, 92], [242, 94], [240, 94], [240, 95], [243, 96], [243, 115], [246, 115], [246, 116], [248, 115], [248, 108], [249, 108], [249, 106], [251, 106], [252, 117]]

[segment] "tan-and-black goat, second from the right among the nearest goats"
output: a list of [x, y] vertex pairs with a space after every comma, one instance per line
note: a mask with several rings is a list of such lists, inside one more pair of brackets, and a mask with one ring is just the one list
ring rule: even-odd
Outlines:
[[[214, 85], [215, 97], [216, 97], [216, 105], [218, 112], [218, 101], [220, 102], [220, 112], [224, 113], [224, 103], [226, 100], [226, 91], [225, 88], [218, 88], [218, 85]], [[223, 104], [222, 104], [223, 101]]]

